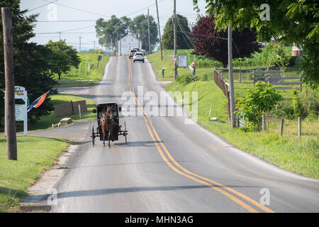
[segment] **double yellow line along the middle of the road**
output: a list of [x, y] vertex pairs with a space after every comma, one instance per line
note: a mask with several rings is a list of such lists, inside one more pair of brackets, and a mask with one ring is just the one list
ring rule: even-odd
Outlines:
[[[130, 62], [130, 59], [128, 57], [127, 57], [127, 60], [128, 60], [128, 84], [129, 84], [129, 87], [130, 87], [130, 94], [131, 94], [131, 96], [133, 98], [135, 106], [138, 106], [138, 111], [140, 111], [140, 114], [144, 118], [144, 121], [145, 121], [145, 124], [147, 126], [148, 132], [150, 133], [150, 137], [152, 138], [155, 146], [157, 147], [159, 155], [161, 155], [161, 157], [164, 160], [164, 162], [166, 162], [167, 165], [172, 170], [177, 172], [179, 175], [183, 175], [184, 177], [188, 177], [189, 179], [193, 179], [194, 181], [196, 181], [198, 183], [201, 183], [201, 184], [204, 184], [204, 185], [206, 185], [208, 187], [211, 187], [212, 189], [216, 190], [217, 192], [220, 192], [221, 194], [225, 195], [229, 199], [235, 201], [235, 203], [239, 204], [240, 206], [245, 208], [247, 211], [250, 211], [252, 213], [258, 213], [258, 211], [256, 209], [252, 208], [252, 206], [246, 204], [244, 201], [238, 199], [233, 194], [236, 194], [241, 199], [250, 202], [254, 206], [259, 207], [259, 209], [262, 209], [263, 211], [265, 211], [267, 213], [274, 213], [274, 211], [272, 211], [271, 209], [268, 209], [266, 206], [263, 206], [262, 204], [259, 204], [257, 201], [254, 201], [253, 199], [251, 199], [249, 196], [246, 196], [245, 194], [237, 192], [236, 190], [234, 190], [234, 189], [232, 189], [230, 187], [227, 187], [227, 186], [225, 186], [223, 184], [220, 184], [218, 182], [215, 182], [215, 181], [213, 181], [211, 179], [207, 179], [206, 177], [201, 177], [199, 175], [194, 174], [193, 172], [189, 172], [189, 170], [186, 170], [184, 167], [181, 167], [181, 165], [179, 165], [179, 163], [176, 160], [174, 160], [172, 155], [170, 155], [169, 151], [165, 147], [164, 143], [162, 143], [162, 140], [159, 138], [159, 135], [157, 134], [157, 131], [155, 130], [150, 117], [145, 113], [144, 109], [141, 109], [139, 107], [140, 103], [138, 101], [138, 98], [136, 97], [136, 94], [135, 94], [135, 91], [134, 91], [134, 87], [133, 87], [132, 62]], [[163, 152], [163, 150], [164, 150], [164, 152]], [[166, 153], [167, 156], [164, 155], [164, 153]], [[167, 157], [169, 158], [169, 160], [167, 159]], [[172, 165], [172, 164], [174, 164], [174, 165]], [[232, 192], [233, 194], [230, 194], [229, 192]]]

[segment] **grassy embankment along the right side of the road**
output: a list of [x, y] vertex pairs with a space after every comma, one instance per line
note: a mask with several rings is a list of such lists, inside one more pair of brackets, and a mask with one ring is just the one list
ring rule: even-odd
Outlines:
[[[152, 62], [159, 79], [162, 79], [162, 67], [167, 67], [167, 72], [169, 72], [165, 75], [167, 78], [164, 79], [173, 79], [172, 55], [169, 55], [169, 52], [164, 54], [163, 63], [160, 60], [159, 52], [148, 55], [148, 59]], [[179, 69], [179, 75], [182, 73], [189, 73], [189, 69]], [[226, 74], [227, 72], [225, 76]], [[172, 82], [167, 84], [165, 89], [169, 92], [198, 92], [198, 123], [201, 126], [225, 138], [230, 144], [247, 153], [261, 157], [285, 170], [319, 179], [318, 119], [306, 119], [303, 121], [303, 135], [301, 138], [298, 138], [298, 123], [296, 120], [285, 121], [283, 136], [279, 135], [279, 123], [274, 121], [269, 125], [267, 131], [263, 133], [245, 133], [238, 128], [231, 128], [228, 123], [209, 121], [208, 114], [211, 104], [213, 104], [211, 116], [228, 122], [227, 99], [212, 80], [212, 68], [197, 68], [196, 75], [200, 78], [197, 82], [192, 82], [185, 86]], [[252, 81], [247, 79], [247, 77], [245, 78], [246, 85], [240, 84], [236, 79], [235, 75], [235, 87], [252, 87]], [[242, 95], [239, 94], [241, 93], [238, 92], [239, 90], [244, 89], [235, 89], [237, 97]], [[289, 93], [287, 91], [281, 92], [284, 96], [289, 96]]]

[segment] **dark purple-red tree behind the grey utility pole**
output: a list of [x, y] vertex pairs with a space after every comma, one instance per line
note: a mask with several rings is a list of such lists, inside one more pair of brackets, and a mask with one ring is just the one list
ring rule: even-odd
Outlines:
[[[213, 16], [199, 17], [196, 25], [190, 34], [194, 40], [195, 55], [205, 55], [213, 60], [223, 63], [223, 67], [228, 65], [228, 33], [217, 31], [215, 28], [215, 18]], [[245, 28], [242, 32], [233, 31], [233, 58], [250, 57], [252, 52], [258, 51], [260, 45], [256, 42], [254, 30]]]

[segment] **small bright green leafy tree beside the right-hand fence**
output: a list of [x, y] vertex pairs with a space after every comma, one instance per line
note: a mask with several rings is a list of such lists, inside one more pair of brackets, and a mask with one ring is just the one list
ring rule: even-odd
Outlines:
[[259, 130], [262, 115], [274, 109], [281, 100], [282, 96], [272, 87], [272, 84], [257, 82], [252, 89], [245, 91], [244, 98], [238, 99], [235, 113], [249, 122], [247, 128]]

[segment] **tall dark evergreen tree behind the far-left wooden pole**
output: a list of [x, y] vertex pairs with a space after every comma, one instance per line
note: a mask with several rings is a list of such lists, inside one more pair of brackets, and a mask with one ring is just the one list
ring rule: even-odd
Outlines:
[[[50, 77], [50, 49], [43, 45], [31, 43], [34, 37], [33, 28], [38, 15], [26, 16], [26, 11], [21, 11], [20, 0], [0, 1], [1, 7], [11, 9], [13, 21], [13, 69], [16, 86], [26, 87], [30, 101], [34, 101], [47, 91], [55, 94], [52, 89], [56, 82]], [[0, 18], [0, 89], [4, 91], [4, 47], [3, 29]], [[4, 92], [0, 91], [0, 122], [4, 118]], [[40, 108], [28, 113], [31, 122], [38, 120], [40, 116], [50, 114], [52, 105], [47, 96]]]

